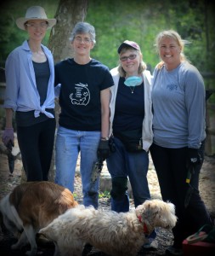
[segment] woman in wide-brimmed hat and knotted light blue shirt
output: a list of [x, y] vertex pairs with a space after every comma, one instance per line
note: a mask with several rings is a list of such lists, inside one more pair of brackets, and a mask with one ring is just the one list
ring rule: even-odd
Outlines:
[[42, 45], [48, 28], [56, 23], [48, 19], [40, 6], [27, 9], [16, 25], [28, 33], [28, 39], [7, 58], [4, 108], [6, 125], [3, 143], [14, 145], [13, 115], [27, 181], [48, 180], [54, 148], [54, 60]]

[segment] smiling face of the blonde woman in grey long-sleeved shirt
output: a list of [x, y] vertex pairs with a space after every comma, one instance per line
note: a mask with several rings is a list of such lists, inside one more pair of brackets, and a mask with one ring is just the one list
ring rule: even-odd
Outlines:
[[173, 38], [163, 37], [159, 42], [159, 55], [167, 70], [178, 67], [181, 62], [181, 47]]

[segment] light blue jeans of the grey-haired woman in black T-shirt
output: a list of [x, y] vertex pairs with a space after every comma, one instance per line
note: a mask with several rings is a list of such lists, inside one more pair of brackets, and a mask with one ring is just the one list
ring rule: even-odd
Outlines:
[[55, 183], [74, 192], [76, 162], [80, 153], [83, 205], [99, 206], [99, 178], [91, 183], [93, 164], [97, 160], [100, 131], [74, 131], [59, 126], [56, 137]]

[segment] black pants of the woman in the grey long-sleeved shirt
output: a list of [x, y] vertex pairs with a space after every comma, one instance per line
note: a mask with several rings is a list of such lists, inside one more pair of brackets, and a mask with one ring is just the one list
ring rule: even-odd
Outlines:
[[[199, 150], [204, 159], [204, 143]], [[187, 176], [187, 148], [162, 148], [155, 143], [150, 147], [150, 154], [156, 168], [163, 201], [171, 201], [176, 207], [178, 222], [173, 228], [174, 247], [182, 247], [187, 236], [193, 235], [204, 224], [212, 224], [204, 202], [199, 193], [199, 174], [201, 165], [196, 166], [190, 185], [194, 188], [188, 207], [184, 207], [189, 185]]]

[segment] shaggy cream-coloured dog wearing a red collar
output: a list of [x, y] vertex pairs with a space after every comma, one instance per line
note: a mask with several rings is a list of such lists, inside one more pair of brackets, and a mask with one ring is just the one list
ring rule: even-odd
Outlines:
[[81, 256], [86, 244], [111, 256], [134, 256], [144, 245], [145, 235], [156, 227], [171, 230], [176, 222], [174, 205], [161, 200], [145, 201], [135, 210], [120, 213], [80, 205], [37, 235], [54, 241], [54, 256]]

